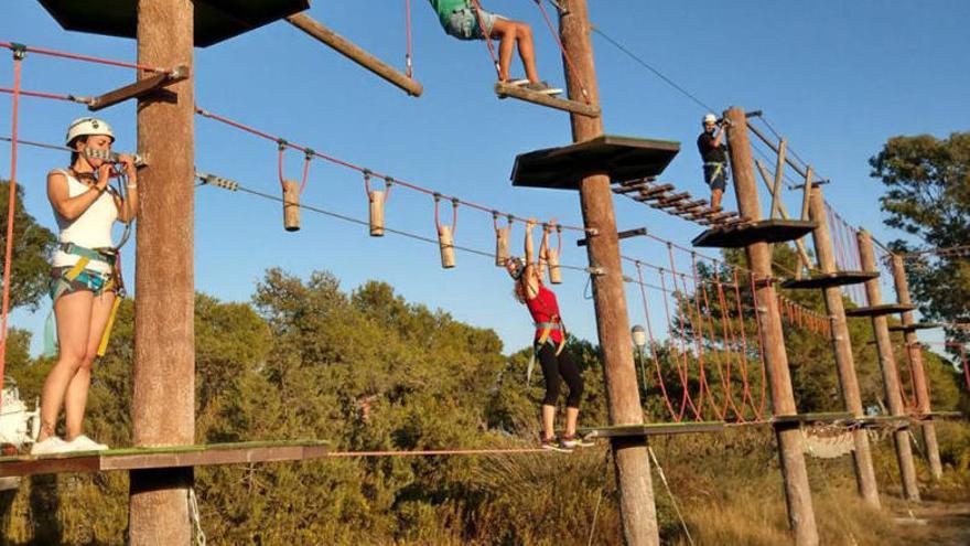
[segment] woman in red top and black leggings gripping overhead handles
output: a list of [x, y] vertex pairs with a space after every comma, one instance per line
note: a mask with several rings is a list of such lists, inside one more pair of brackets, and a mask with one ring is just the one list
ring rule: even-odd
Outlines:
[[[515, 298], [524, 303], [532, 321], [536, 323], [536, 338], [532, 345], [534, 358], [539, 360], [542, 366], [542, 376], [546, 379], [546, 396], [542, 398], [542, 440], [543, 449], [554, 451], [570, 451], [578, 447], [588, 447], [592, 443], [584, 441], [575, 433], [576, 421], [580, 415], [580, 399], [583, 396], [583, 378], [569, 353], [563, 352], [565, 345], [565, 326], [559, 315], [559, 303], [552, 290], [542, 283], [542, 275], [546, 268], [546, 255], [549, 248], [549, 232], [554, 221], [543, 226], [542, 243], [539, 246], [539, 259], [532, 249], [532, 228], [536, 221], [526, 222], [525, 251], [526, 259], [509, 258], [506, 261], [508, 274], [515, 279]], [[531, 367], [531, 363], [529, 364]], [[556, 405], [562, 379], [569, 386], [569, 395], [565, 402], [565, 433], [562, 438], [556, 438]]]

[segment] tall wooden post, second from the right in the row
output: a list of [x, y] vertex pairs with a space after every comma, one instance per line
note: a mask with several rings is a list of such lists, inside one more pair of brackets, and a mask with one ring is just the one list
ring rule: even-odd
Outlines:
[[[859, 258], [862, 261], [862, 268], [866, 271], [877, 271], [875, 251], [872, 248], [872, 237], [869, 235], [869, 232], [860, 229], [858, 239]], [[882, 303], [879, 279], [865, 281], [865, 298], [870, 307]], [[890, 341], [890, 326], [884, 314], [872, 318], [872, 330], [875, 334], [875, 345], [880, 356], [880, 371], [883, 374], [883, 386], [885, 388], [886, 404], [890, 406], [890, 414], [905, 416], [906, 408], [903, 407], [903, 396], [899, 393], [899, 371], [896, 367], [896, 357], [893, 355], [893, 344]], [[919, 486], [916, 483], [916, 468], [913, 465], [909, 430], [906, 428], [897, 429], [893, 432], [893, 441], [896, 445], [896, 461], [899, 464], [899, 474], [903, 479], [903, 494], [910, 501], [918, 501]]]

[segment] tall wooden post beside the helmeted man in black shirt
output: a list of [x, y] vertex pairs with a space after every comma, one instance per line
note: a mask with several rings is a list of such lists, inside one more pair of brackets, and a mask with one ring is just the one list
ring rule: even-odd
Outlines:
[[[741, 216], [758, 221], [762, 217], [757, 185], [754, 178], [754, 163], [751, 159], [751, 140], [747, 136], [747, 118], [744, 110], [732, 107], [724, 111], [728, 126], [728, 141], [731, 143], [731, 171], [734, 176], [734, 191], [737, 211]], [[770, 385], [772, 406], [775, 415], [796, 415], [795, 395], [791, 390], [791, 376], [788, 371], [788, 355], [785, 353], [785, 336], [782, 330], [782, 315], [778, 300], [772, 283], [772, 255], [767, 243], [754, 243], [745, 248], [747, 264], [755, 277], [755, 304], [764, 335], [765, 363]], [[798, 546], [817, 545], [818, 529], [815, 523], [815, 508], [808, 484], [808, 470], [801, 446], [801, 431], [797, 428], [776, 427], [778, 457], [782, 462], [782, 477], [785, 480], [785, 500], [788, 504], [788, 523]]]

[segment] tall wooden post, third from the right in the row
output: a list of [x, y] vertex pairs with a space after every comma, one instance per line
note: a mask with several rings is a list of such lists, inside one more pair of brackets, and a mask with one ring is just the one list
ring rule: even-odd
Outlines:
[[[836, 256], [832, 251], [832, 237], [826, 218], [826, 204], [822, 189], [812, 186], [808, 211], [810, 220], [818, 223], [812, 232], [815, 254], [818, 257], [819, 270], [823, 274], [836, 272]], [[845, 307], [839, 287], [824, 288], [826, 310], [832, 325], [832, 351], [836, 354], [836, 367], [839, 370], [839, 385], [842, 387], [842, 403], [845, 410], [856, 417], [864, 415], [862, 396], [859, 394], [859, 379], [855, 376], [855, 362], [852, 358], [852, 340], [849, 336], [849, 324], [845, 321]], [[856, 428], [852, 431], [855, 451], [852, 462], [855, 469], [855, 485], [859, 494], [872, 506], [880, 507], [879, 486], [875, 470], [872, 467], [872, 450], [869, 447], [869, 433]]]

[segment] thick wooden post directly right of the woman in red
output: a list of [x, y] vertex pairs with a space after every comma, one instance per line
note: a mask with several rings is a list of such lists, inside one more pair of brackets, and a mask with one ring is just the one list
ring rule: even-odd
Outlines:
[[[560, 2], [559, 29], [565, 54], [574, 63], [573, 69], [563, 57], [569, 97], [583, 100], [583, 88], [592, 104], [599, 104], [596, 71], [590, 41], [590, 17], [585, 0]], [[602, 118], [571, 115], [573, 141], [580, 142], [603, 133]], [[629, 340], [629, 319], [619, 261], [619, 239], [613, 194], [606, 175], [586, 176], [580, 183], [583, 222], [595, 228], [586, 246], [590, 265], [603, 268], [594, 275], [593, 304], [596, 310], [596, 332], [603, 356], [606, 402], [611, 425], [643, 422], [637, 387], [636, 367]], [[628, 546], [657, 545], [657, 507], [650, 478], [650, 460], [646, 437], [613, 439], [614, 470], [619, 485], [619, 511], [624, 542]]]

